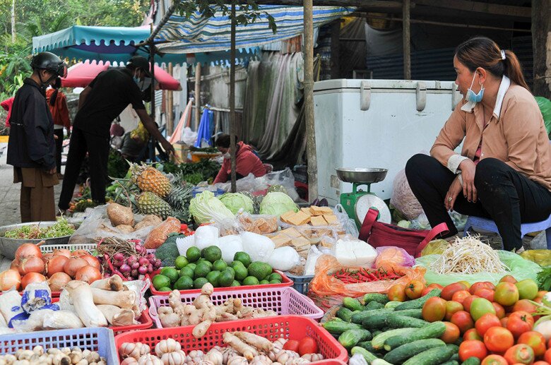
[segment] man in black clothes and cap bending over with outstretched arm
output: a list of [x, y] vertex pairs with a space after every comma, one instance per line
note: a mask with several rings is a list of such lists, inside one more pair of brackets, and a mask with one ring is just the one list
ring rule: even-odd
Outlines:
[[167, 152], [174, 152], [170, 142], [161, 136], [157, 125], [143, 106], [142, 92], [146, 78], [151, 78], [147, 59], [134, 56], [126, 68], [103, 71], [81, 92], [59, 197], [59, 209], [69, 208], [86, 152], [90, 163], [92, 199], [105, 203], [109, 128], [111, 122], [128, 104], [132, 105], [151, 136], [160, 141], [162, 148]]

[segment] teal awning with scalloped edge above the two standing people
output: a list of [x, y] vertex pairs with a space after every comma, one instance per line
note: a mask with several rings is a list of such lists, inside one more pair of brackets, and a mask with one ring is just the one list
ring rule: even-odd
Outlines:
[[[58, 56], [79, 61], [127, 62], [138, 54], [148, 57], [147, 49], [136, 47], [150, 35], [149, 26], [88, 27], [73, 25], [58, 32], [32, 38], [32, 52], [52, 52]], [[229, 48], [229, 47], [228, 47]], [[237, 60], [248, 59], [259, 52], [257, 47], [238, 49]], [[225, 62], [230, 52], [198, 53], [190, 60], [184, 54], [155, 54], [157, 64], [215, 63]]]

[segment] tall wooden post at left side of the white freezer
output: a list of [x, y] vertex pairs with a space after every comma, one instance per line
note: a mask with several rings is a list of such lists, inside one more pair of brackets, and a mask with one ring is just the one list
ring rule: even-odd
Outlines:
[[318, 197], [318, 160], [314, 128], [314, 20], [312, 0], [304, 0], [304, 118], [308, 159], [308, 199]]

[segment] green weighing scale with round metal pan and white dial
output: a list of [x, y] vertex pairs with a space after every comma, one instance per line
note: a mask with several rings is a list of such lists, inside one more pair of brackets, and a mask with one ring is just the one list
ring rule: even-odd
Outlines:
[[[383, 181], [388, 169], [336, 169], [340, 181], [352, 183], [352, 193], [340, 194], [340, 205], [352, 220], [355, 220], [358, 228], [362, 227], [365, 215], [369, 208], [379, 211], [377, 220], [383, 223], [390, 223], [391, 213], [389, 207], [375, 193], [371, 192], [371, 184]], [[357, 189], [358, 186], [367, 185], [367, 191]]]

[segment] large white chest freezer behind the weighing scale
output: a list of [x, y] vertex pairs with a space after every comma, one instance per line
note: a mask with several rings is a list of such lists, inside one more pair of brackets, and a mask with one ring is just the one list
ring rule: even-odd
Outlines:
[[[391, 197], [394, 176], [418, 152], [429, 152], [461, 100], [453, 81], [324, 80], [314, 84], [314, 118], [320, 198], [340, 201], [352, 184], [338, 180], [338, 167], [389, 169], [372, 184]], [[363, 186], [365, 189], [365, 186]]]

